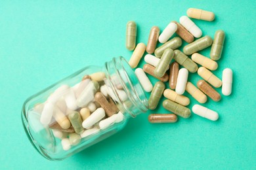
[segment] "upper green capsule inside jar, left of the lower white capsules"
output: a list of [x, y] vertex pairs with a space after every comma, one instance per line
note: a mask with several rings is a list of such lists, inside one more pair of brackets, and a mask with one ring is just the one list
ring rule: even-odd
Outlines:
[[83, 121], [82, 121], [82, 118], [81, 118], [79, 112], [77, 112], [77, 111], [71, 112], [68, 115], [68, 118], [70, 119], [70, 123], [72, 124], [72, 126], [75, 129], [75, 133], [78, 133], [78, 134], [83, 133], [83, 126], [82, 126]]

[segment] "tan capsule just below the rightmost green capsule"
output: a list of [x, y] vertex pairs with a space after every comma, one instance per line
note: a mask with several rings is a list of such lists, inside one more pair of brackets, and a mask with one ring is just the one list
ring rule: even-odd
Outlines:
[[196, 63], [212, 71], [218, 68], [218, 63], [216, 61], [213, 61], [213, 59], [207, 58], [201, 54], [194, 53], [192, 54], [191, 59]]

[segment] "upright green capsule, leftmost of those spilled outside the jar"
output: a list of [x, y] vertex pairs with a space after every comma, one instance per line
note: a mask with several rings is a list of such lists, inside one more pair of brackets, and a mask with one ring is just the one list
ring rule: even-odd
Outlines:
[[129, 21], [126, 24], [126, 48], [128, 50], [134, 50], [136, 46], [137, 25], [133, 21]]

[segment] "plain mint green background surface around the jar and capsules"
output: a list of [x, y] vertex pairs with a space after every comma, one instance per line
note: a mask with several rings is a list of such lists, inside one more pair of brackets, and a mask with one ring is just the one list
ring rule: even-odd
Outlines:
[[[214, 22], [193, 20], [203, 35], [226, 32], [214, 73], [234, 71], [233, 93], [204, 104], [219, 112], [217, 122], [192, 114], [176, 124], [150, 124], [146, 113], [64, 161], [35, 151], [20, 120], [27, 97], [85, 65], [129, 59], [129, 20], [138, 24], [137, 42], [147, 43], [153, 25], [162, 31], [189, 7], [215, 12]], [[255, 9], [255, 1], [0, 1], [0, 169], [255, 169]], [[189, 79], [196, 84], [200, 77]], [[167, 110], [160, 105], [154, 112]]]

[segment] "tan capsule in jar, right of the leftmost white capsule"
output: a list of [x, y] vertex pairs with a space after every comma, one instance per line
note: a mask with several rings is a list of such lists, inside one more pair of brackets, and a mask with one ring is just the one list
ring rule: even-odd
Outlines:
[[70, 120], [58, 107], [54, 108], [53, 117], [62, 129], [68, 129], [71, 126]]

